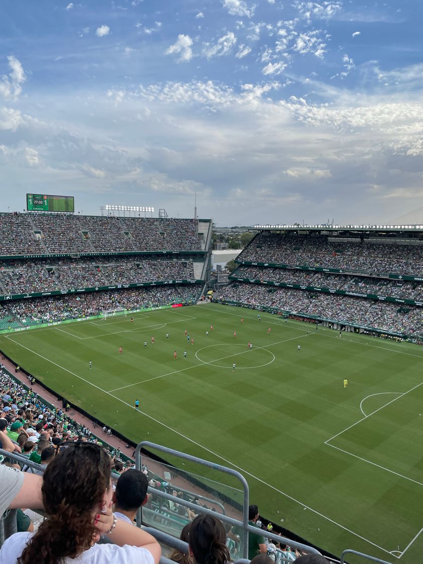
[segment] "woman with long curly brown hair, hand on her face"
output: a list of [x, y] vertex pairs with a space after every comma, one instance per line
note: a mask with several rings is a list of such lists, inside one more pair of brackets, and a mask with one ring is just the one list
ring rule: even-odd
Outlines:
[[[111, 461], [92, 443], [64, 444], [43, 474], [47, 519], [34, 534], [16, 533], [0, 549], [8, 564], [158, 564], [148, 533], [112, 513]], [[96, 544], [101, 534], [114, 544]]]

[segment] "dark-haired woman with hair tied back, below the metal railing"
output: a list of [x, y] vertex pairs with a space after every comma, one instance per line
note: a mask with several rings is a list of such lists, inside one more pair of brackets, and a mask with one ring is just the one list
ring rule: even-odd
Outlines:
[[188, 551], [196, 564], [229, 564], [226, 533], [213, 515], [197, 515], [190, 527]]

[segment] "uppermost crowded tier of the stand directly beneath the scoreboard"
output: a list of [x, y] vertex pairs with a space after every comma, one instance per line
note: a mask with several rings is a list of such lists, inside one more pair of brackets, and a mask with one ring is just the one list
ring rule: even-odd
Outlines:
[[0, 255], [201, 250], [192, 219], [0, 214]]

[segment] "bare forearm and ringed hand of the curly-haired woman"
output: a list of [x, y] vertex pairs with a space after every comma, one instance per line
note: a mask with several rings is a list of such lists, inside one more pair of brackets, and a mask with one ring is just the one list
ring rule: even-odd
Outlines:
[[[111, 508], [107, 510], [107, 514], [105, 515], [102, 513], [96, 515], [94, 525], [101, 534], [108, 534], [112, 524], [113, 513]], [[133, 547], [145, 548], [149, 553], [151, 553], [155, 564], [158, 564], [161, 556], [161, 547], [155, 537], [150, 535], [148, 532], [143, 531], [139, 527], [134, 527], [134, 525], [130, 525], [130, 523], [121, 521], [121, 519], [117, 519], [116, 526], [110, 534], [108, 534], [108, 536], [110, 540], [119, 547], [129, 544]]]

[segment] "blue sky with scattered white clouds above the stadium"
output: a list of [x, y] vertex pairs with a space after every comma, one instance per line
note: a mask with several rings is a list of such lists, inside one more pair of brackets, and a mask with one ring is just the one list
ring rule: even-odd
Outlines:
[[3, 3], [2, 205], [25, 193], [220, 225], [423, 205], [415, 0]]

